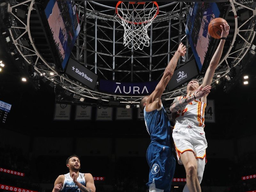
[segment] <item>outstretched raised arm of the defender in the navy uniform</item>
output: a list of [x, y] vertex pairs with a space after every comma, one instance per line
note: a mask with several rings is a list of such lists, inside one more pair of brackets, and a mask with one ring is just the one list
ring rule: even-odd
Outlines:
[[173, 75], [174, 69], [176, 68], [180, 56], [184, 56], [185, 53], [186, 46], [180, 43], [178, 50], [174, 53], [172, 59], [165, 68], [163, 77], [156, 85], [156, 89], [148, 97], [146, 106], [147, 111], [155, 110], [161, 106], [161, 96], [164, 92], [164, 89]]

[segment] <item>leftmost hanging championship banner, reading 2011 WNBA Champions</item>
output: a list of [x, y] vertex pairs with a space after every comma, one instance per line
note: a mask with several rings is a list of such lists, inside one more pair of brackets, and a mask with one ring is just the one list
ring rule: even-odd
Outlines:
[[70, 120], [71, 105], [56, 103], [54, 120]]

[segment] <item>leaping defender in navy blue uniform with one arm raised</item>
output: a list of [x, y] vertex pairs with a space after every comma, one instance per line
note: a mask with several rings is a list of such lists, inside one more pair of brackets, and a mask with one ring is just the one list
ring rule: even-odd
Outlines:
[[186, 53], [182, 43], [165, 68], [163, 77], [156, 89], [140, 101], [140, 109], [144, 110], [144, 119], [151, 143], [147, 150], [147, 160], [150, 167], [148, 187], [149, 192], [169, 192], [175, 170], [174, 146], [171, 137], [171, 124], [161, 102], [161, 96], [170, 81], [180, 56]]

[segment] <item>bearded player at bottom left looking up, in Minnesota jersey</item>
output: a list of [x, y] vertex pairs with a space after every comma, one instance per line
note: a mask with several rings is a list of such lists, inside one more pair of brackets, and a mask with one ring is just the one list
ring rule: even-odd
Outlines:
[[91, 173], [79, 173], [80, 159], [73, 155], [66, 161], [69, 173], [60, 175], [54, 182], [52, 192], [95, 192], [94, 181]]

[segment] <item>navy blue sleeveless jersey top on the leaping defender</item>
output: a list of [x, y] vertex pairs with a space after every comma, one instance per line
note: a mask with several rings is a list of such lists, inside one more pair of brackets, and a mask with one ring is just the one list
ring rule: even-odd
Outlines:
[[144, 108], [144, 119], [151, 141], [164, 141], [170, 145], [171, 124], [163, 108], [147, 112]]

